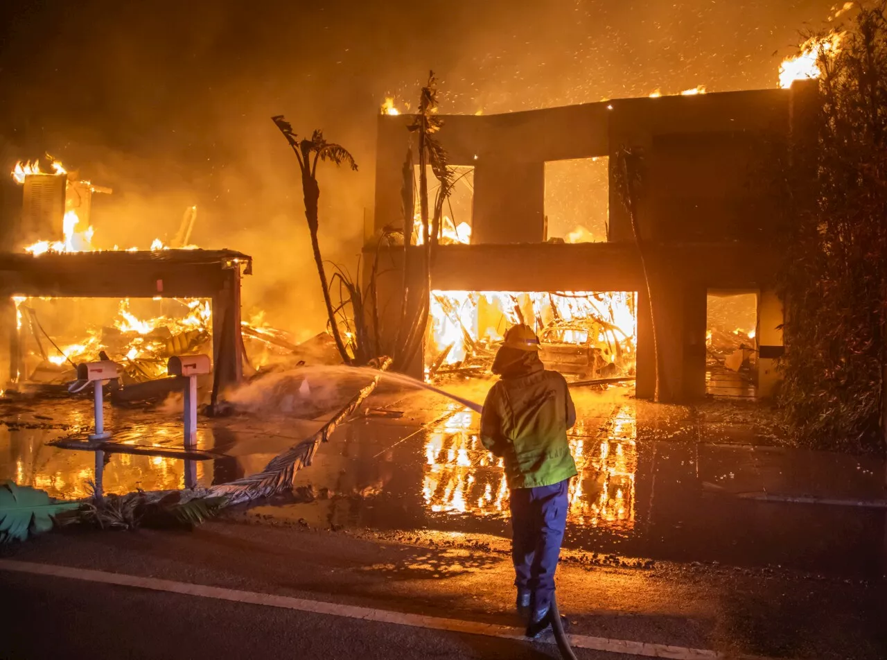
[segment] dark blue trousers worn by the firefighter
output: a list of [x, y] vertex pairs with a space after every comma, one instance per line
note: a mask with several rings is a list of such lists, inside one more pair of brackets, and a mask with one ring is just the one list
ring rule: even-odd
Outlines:
[[554, 571], [567, 526], [569, 479], [550, 486], [511, 491], [511, 555], [514, 585], [532, 593], [532, 608], [548, 609], [554, 593]]

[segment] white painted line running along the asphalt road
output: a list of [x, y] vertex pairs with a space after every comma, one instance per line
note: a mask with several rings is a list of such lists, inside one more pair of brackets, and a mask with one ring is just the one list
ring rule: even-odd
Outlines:
[[[0, 559], [0, 570], [50, 576], [53, 578], [86, 580], [104, 585], [133, 586], [153, 591], [182, 593], [189, 596], [200, 596], [201, 598], [215, 598], [219, 601], [245, 602], [251, 605], [265, 605], [272, 608], [296, 609], [301, 612], [313, 612], [334, 617], [348, 617], [386, 624], [411, 625], [416, 628], [428, 628], [430, 630], [442, 630], [451, 633], [486, 635], [506, 640], [526, 639], [521, 628], [513, 628], [506, 625], [483, 624], [476, 621], [461, 621], [459, 619], [442, 617], [426, 617], [420, 614], [363, 608], [356, 605], [342, 605], [327, 601], [310, 601], [291, 596], [279, 596], [273, 593], [225, 589], [220, 586], [194, 585], [187, 582], [176, 582], [160, 578], [110, 573], [104, 570], [76, 569], [70, 566], [19, 562], [10, 559]], [[610, 640], [605, 637], [591, 637], [588, 635], [570, 635], [569, 637], [570, 643], [574, 648], [590, 648], [631, 656], [665, 657], [672, 660], [766, 660], [766, 658], [735, 656], [702, 648], [675, 647], [665, 644], [650, 644], [643, 641]], [[553, 643], [553, 640], [551, 641]]]

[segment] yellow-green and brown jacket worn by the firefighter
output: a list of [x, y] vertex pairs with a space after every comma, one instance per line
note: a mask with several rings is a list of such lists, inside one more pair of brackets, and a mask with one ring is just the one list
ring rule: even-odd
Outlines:
[[481, 442], [505, 459], [509, 488], [548, 486], [577, 474], [567, 441], [575, 423], [567, 381], [539, 369], [492, 386], [481, 414]]

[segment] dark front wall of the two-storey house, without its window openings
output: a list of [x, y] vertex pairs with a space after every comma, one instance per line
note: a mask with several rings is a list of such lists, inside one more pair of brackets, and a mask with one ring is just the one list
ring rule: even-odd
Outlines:
[[[809, 132], [818, 103], [815, 86], [444, 117], [439, 137], [451, 164], [475, 167], [474, 223], [472, 245], [438, 251], [432, 286], [637, 291], [638, 396], [653, 396], [658, 373], [662, 400], [702, 397], [706, 291], [771, 290], [778, 262], [768, 248], [773, 223], [765, 171], [774, 154], [787, 153]], [[411, 122], [406, 116], [379, 120], [377, 231], [402, 224]], [[636, 208], [652, 316], [618, 185], [617, 155], [626, 147], [643, 155]], [[546, 161], [596, 156], [608, 156], [610, 164], [608, 243], [543, 243]], [[397, 284], [402, 281], [390, 279], [392, 300], [402, 297]], [[762, 318], [779, 325], [781, 307], [767, 296], [772, 294], [762, 294]], [[772, 391], [775, 378], [767, 359], [761, 362], [764, 392]]]

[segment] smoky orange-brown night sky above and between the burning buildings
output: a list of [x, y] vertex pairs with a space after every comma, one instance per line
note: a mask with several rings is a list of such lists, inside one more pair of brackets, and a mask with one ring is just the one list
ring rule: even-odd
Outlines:
[[[0, 167], [52, 153], [114, 187], [97, 242], [195, 240], [256, 258], [247, 300], [318, 312], [294, 162], [269, 121], [323, 128], [357, 173], [321, 176], [322, 247], [352, 262], [373, 207], [375, 118], [434, 68], [442, 112], [485, 114], [773, 87], [823, 0], [6, 2]], [[778, 51], [774, 55], [774, 51]], [[122, 219], [121, 219], [122, 218]], [[103, 241], [103, 237], [106, 241]], [[304, 286], [307, 279], [308, 286]], [[319, 318], [319, 317], [318, 317]]]

